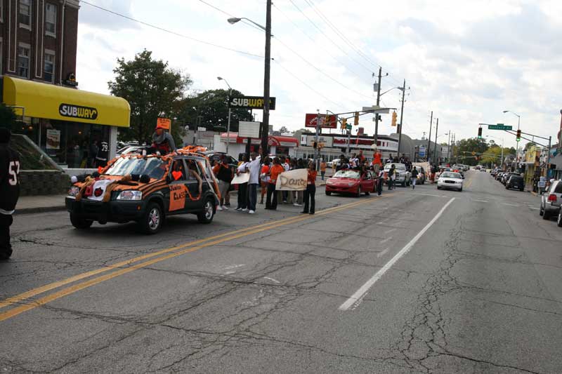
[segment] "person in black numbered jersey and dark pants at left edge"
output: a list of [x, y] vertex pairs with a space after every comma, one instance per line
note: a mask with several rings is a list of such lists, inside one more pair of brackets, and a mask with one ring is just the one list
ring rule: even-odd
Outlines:
[[9, 145], [11, 131], [0, 128], [0, 260], [12, 255], [10, 226], [20, 197], [20, 156]]

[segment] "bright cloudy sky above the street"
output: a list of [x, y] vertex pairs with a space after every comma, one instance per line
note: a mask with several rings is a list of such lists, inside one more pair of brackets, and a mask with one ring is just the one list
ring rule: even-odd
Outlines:
[[[222, 76], [244, 95], [263, 95], [265, 33], [227, 19], [265, 25], [265, 0], [88, 2], [169, 32], [81, 1], [77, 80], [82, 90], [108, 93], [117, 58], [131, 60], [147, 49], [190, 75], [190, 93], [227, 88], [216, 79]], [[272, 33], [270, 90], [277, 102], [270, 124], [275, 129], [303, 128], [305, 114], [317, 110], [352, 112], [376, 104], [373, 74], [381, 67], [381, 92], [402, 86], [404, 79], [409, 88], [403, 133], [411, 138], [429, 135], [431, 111], [431, 138], [438, 118], [439, 142], [449, 131], [457, 140], [473, 138], [478, 123], [516, 128], [518, 117], [504, 110], [521, 116], [525, 133], [546, 138], [558, 133], [562, 1], [276, 0]], [[400, 99], [397, 89], [381, 96], [381, 107], [398, 109], [398, 122]], [[360, 118], [360, 126], [374, 133], [372, 115]], [[391, 115], [383, 115], [379, 134], [395, 129]], [[503, 131], [485, 127], [483, 135], [516, 145], [515, 136]]]

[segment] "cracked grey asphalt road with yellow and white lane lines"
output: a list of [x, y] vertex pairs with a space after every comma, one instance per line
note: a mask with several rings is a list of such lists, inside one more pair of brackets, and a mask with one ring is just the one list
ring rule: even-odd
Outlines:
[[16, 216], [0, 372], [562, 372], [562, 229], [536, 196], [476, 171], [317, 196], [157, 236]]

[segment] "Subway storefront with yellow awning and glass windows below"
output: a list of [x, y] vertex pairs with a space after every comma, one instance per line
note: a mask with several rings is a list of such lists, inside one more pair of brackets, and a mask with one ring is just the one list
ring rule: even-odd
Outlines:
[[129, 127], [123, 98], [4, 76], [2, 102], [15, 109], [27, 135], [63, 168], [89, 168], [96, 156], [111, 159], [117, 129]]

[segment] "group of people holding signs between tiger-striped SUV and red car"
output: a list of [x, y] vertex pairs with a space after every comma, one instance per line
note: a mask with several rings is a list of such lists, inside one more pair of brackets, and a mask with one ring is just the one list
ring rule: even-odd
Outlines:
[[[308, 169], [306, 189], [304, 191], [277, 191], [275, 188], [277, 178], [285, 171], [295, 169]], [[293, 204], [294, 206], [304, 206], [301, 213], [314, 214], [315, 212], [315, 193], [317, 172], [314, 164], [306, 164], [303, 159], [290, 159], [289, 157], [266, 157], [263, 161], [256, 152], [243, 155], [235, 170], [228, 164], [226, 156], [221, 157], [221, 161], [213, 166], [213, 173], [218, 180], [218, 189], [221, 193], [221, 201], [218, 211], [228, 210], [230, 206], [229, 191], [233, 189], [233, 179], [235, 175], [248, 173], [247, 182], [238, 183], [237, 207], [236, 211], [254, 214], [257, 208], [258, 188], [261, 187], [261, 200], [265, 209], [275, 211], [280, 203]]]

